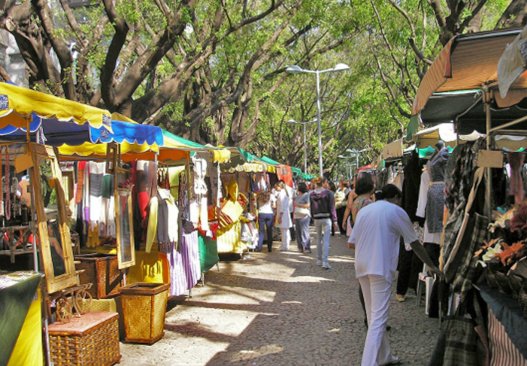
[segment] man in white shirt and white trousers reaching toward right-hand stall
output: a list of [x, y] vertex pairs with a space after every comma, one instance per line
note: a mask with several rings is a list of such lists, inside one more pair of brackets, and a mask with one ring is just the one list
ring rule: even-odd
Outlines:
[[408, 215], [399, 207], [401, 198], [402, 193], [395, 185], [385, 185], [382, 199], [370, 203], [357, 213], [348, 240], [349, 248], [355, 249], [355, 272], [363, 290], [369, 324], [361, 366], [400, 362], [392, 355], [386, 321], [401, 236], [432, 272], [441, 275], [416, 238]]

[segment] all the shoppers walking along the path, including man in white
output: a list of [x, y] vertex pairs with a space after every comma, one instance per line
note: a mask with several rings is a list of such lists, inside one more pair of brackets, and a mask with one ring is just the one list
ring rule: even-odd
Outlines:
[[368, 328], [362, 366], [397, 364], [399, 359], [390, 349], [386, 321], [401, 243], [409, 243], [431, 272], [442, 274], [400, 207], [402, 193], [397, 186], [387, 184], [376, 191], [373, 175], [362, 173], [352, 184], [340, 181], [338, 186], [331, 188], [325, 177], [317, 177], [310, 182], [310, 187], [299, 183], [296, 194], [282, 181], [275, 184], [273, 192], [260, 193], [257, 200], [258, 250], [261, 251], [266, 236], [268, 251], [272, 250], [273, 225], [281, 232], [280, 250], [288, 250], [290, 230], [294, 226], [298, 252], [311, 253], [309, 225], [313, 224], [317, 265], [330, 269], [328, 254], [332, 231], [339, 230], [340, 234], [349, 236], [349, 248], [355, 249], [359, 300]]

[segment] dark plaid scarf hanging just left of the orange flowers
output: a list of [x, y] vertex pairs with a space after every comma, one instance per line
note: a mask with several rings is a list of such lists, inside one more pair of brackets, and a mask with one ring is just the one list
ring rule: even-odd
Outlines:
[[[472, 238], [470, 245], [464, 248], [463, 253], [458, 251], [458, 255], [461, 257], [461, 265], [456, 270], [456, 276], [452, 284], [453, 291], [460, 293], [463, 299], [466, 296], [466, 292], [472, 289], [472, 283], [476, 279], [477, 275], [481, 272], [481, 268], [477, 267], [477, 258], [474, 258], [474, 253], [480, 248], [483, 243], [486, 234], [486, 228], [489, 224], [489, 219], [486, 216], [474, 213], [475, 222], [474, 230], [472, 232]], [[461, 250], [461, 249], [460, 249]]]

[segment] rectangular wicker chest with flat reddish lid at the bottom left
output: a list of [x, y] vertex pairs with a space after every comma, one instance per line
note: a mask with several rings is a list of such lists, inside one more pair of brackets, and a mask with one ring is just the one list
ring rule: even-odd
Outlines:
[[55, 366], [112, 365], [119, 354], [119, 314], [92, 311], [65, 324], [48, 326], [50, 355]]

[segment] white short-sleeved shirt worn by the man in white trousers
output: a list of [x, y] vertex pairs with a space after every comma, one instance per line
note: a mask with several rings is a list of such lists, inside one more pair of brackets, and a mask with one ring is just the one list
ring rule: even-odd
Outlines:
[[380, 200], [360, 209], [349, 243], [355, 243], [357, 278], [368, 274], [393, 282], [399, 258], [399, 240], [417, 240], [406, 212], [394, 203]]

